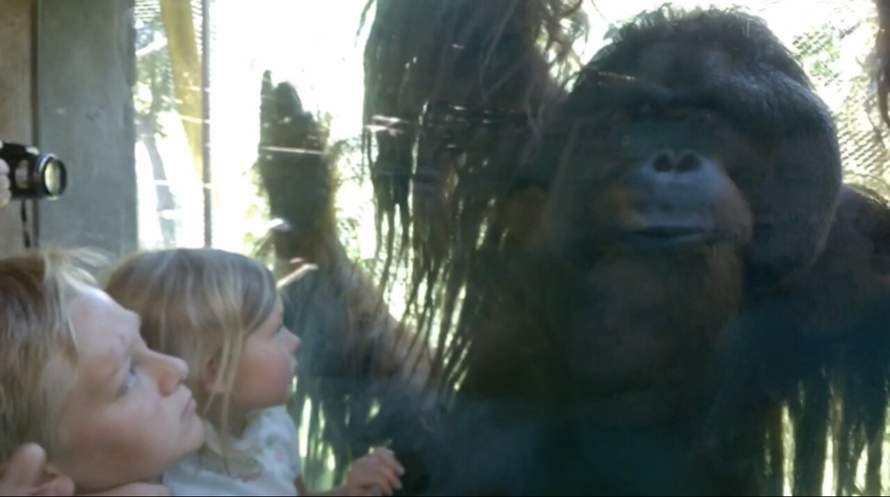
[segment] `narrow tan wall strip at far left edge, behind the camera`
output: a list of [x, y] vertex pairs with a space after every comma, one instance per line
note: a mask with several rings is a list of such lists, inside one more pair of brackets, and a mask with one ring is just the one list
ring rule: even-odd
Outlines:
[[[0, 140], [32, 139], [31, 0], [0, 1]], [[33, 219], [33, 212], [31, 216]], [[0, 209], [0, 257], [22, 249], [20, 203]]]

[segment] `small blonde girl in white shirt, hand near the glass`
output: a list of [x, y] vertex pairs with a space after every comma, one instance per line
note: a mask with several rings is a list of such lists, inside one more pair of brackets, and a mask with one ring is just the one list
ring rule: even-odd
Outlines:
[[[269, 269], [221, 250], [164, 250], [124, 261], [106, 290], [142, 317], [150, 348], [190, 366], [206, 441], [166, 472], [175, 495], [312, 494], [285, 409], [300, 341], [283, 324]], [[314, 494], [390, 494], [402, 471], [378, 450], [356, 461], [344, 486]]]

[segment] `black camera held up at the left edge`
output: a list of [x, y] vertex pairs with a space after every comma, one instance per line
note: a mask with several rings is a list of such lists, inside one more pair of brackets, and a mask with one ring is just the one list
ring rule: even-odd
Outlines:
[[55, 199], [68, 187], [65, 164], [30, 145], [0, 141], [0, 159], [9, 164], [12, 199]]

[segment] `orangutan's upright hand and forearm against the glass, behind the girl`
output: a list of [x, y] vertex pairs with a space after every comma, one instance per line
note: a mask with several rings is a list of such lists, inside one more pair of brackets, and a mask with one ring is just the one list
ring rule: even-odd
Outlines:
[[[430, 357], [425, 343], [402, 339], [406, 332], [381, 292], [339, 239], [323, 126], [303, 109], [292, 84], [273, 87], [268, 72], [261, 95], [257, 170], [271, 217], [283, 221], [271, 241], [285, 321], [303, 340], [291, 408], [309, 431], [303, 478], [315, 485], [327, 470], [328, 450], [341, 478], [355, 457], [382, 442], [369, 424], [423, 402]], [[303, 267], [296, 269], [294, 259]], [[378, 414], [375, 405], [382, 407]]]

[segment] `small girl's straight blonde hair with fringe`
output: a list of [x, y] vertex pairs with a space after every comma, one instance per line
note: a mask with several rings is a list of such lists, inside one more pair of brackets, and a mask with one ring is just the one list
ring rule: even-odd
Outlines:
[[229, 432], [231, 389], [249, 333], [268, 318], [278, 299], [271, 271], [238, 253], [216, 249], [171, 249], [139, 253], [117, 266], [106, 292], [142, 317], [150, 349], [181, 357], [202, 417], [215, 394], [206, 394], [201, 374], [218, 361], [222, 381], [218, 429]]

